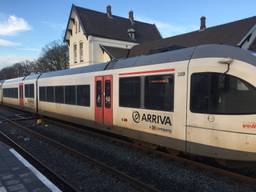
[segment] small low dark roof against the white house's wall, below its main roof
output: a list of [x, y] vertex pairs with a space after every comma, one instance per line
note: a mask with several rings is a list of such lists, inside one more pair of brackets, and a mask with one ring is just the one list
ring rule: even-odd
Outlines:
[[118, 47], [110, 47], [105, 45], [100, 45], [100, 47], [111, 57], [111, 59], [126, 58], [129, 52], [129, 49], [123, 49]]

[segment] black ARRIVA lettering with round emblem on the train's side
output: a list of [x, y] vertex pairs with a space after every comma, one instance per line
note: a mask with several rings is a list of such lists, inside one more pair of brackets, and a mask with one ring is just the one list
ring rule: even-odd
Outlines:
[[148, 122], [162, 125], [172, 126], [171, 118], [169, 116], [155, 115], [155, 114], [146, 114], [143, 113], [140, 115], [138, 111], [132, 113], [132, 119], [135, 123], [139, 122]]

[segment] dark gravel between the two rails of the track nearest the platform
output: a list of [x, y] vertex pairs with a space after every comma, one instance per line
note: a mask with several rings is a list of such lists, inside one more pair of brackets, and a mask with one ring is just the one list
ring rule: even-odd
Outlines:
[[138, 191], [114, 175], [9, 124], [2, 124], [0, 129], [80, 191]]

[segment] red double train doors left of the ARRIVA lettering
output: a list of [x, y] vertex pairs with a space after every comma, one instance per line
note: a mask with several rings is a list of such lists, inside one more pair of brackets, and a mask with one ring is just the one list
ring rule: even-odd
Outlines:
[[113, 124], [112, 75], [95, 77], [95, 121], [104, 125]]

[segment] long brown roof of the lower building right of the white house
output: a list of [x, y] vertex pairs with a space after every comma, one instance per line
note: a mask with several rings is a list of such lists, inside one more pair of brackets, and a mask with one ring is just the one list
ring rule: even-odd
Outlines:
[[243, 20], [226, 23], [206, 28], [203, 31], [177, 35], [152, 42], [142, 43], [134, 46], [129, 52], [129, 57], [150, 54], [152, 51], [166, 49], [168, 47], [193, 47], [202, 44], [226, 44], [237, 46], [256, 24], [256, 16]]

